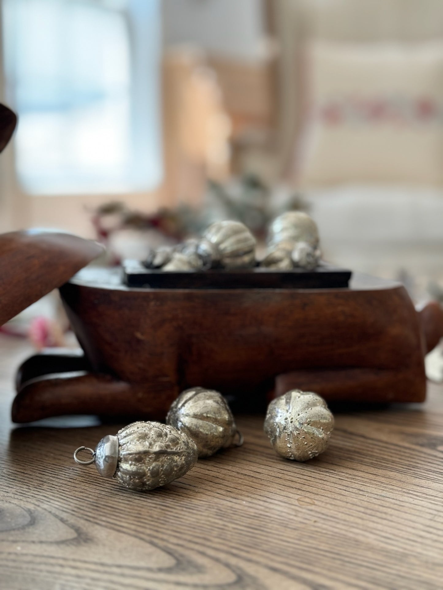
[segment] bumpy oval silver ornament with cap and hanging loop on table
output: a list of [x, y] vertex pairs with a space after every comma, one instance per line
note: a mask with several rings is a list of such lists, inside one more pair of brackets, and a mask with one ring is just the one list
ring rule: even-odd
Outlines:
[[[79, 459], [80, 451], [92, 458]], [[103, 477], [112, 477], [131, 490], [153, 490], [184, 476], [197, 462], [195, 442], [184, 432], [160, 422], [133, 422], [107, 435], [93, 451], [80, 447], [74, 453], [76, 463], [95, 463]]]

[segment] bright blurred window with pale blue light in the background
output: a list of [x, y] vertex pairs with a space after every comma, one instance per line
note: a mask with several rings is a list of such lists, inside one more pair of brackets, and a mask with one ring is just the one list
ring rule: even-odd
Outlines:
[[4, 0], [8, 100], [30, 194], [162, 179], [159, 0]]

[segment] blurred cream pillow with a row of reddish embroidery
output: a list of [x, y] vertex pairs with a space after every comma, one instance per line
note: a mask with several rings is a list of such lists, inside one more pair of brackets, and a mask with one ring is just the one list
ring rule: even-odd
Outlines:
[[308, 50], [302, 186], [443, 183], [443, 42]]

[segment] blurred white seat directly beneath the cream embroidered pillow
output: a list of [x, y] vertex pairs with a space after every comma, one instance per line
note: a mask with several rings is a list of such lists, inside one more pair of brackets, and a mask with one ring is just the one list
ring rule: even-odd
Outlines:
[[443, 278], [443, 191], [346, 185], [310, 193], [325, 258], [423, 286]]

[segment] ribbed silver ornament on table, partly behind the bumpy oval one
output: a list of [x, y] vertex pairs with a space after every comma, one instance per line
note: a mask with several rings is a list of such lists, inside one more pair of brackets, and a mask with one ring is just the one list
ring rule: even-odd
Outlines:
[[197, 445], [198, 457], [210, 457], [220, 448], [243, 442], [223, 395], [214, 389], [193, 387], [172, 402], [167, 424], [185, 432]]

